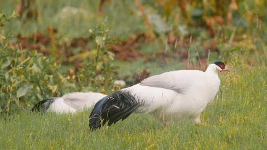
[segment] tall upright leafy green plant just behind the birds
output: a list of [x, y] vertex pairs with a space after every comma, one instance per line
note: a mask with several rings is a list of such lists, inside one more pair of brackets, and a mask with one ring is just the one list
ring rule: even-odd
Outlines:
[[116, 72], [115, 66], [110, 63], [114, 60], [114, 54], [107, 49], [107, 44], [114, 43], [108, 36], [108, 29], [105, 24], [98, 25], [95, 29], [90, 29], [93, 38], [92, 50], [82, 53], [86, 57], [82, 68], [78, 71], [78, 82], [82, 90], [96, 88], [97, 91], [107, 93], [110, 89], [115, 90], [113, 84]]

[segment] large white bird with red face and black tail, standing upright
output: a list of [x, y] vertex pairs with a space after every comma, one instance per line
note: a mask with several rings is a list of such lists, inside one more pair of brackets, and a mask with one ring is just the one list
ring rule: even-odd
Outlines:
[[183, 118], [201, 124], [201, 112], [219, 90], [221, 71], [229, 70], [223, 62], [215, 62], [205, 72], [178, 70], [146, 78], [99, 100], [90, 114], [89, 126], [91, 130], [106, 122], [110, 126], [133, 112], [149, 113], [165, 124]]

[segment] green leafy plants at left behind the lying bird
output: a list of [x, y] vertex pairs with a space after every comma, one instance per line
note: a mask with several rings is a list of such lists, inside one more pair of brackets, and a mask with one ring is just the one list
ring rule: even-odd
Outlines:
[[[12, 14], [15, 17], [15, 13]], [[0, 15], [4, 25], [8, 19]], [[69, 92], [101, 91], [114, 89], [114, 67], [110, 65], [113, 53], [107, 51], [110, 42], [108, 30], [102, 24], [92, 30], [93, 48], [87, 52], [82, 67], [69, 74], [59, 72], [60, 65], [53, 57], [43, 56], [33, 50], [22, 49], [10, 41], [12, 36], [0, 35], [0, 115], [27, 111], [38, 101], [58, 97]], [[4, 37], [4, 38], [3, 38]], [[5, 38], [8, 37], [8, 38]]]

